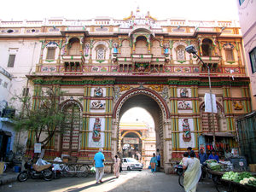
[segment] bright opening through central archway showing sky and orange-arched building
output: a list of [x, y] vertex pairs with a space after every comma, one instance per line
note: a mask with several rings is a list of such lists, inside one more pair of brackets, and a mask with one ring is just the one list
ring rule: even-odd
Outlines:
[[148, 167], [152, 154], [157, 151], [151, 114], [143, 108], [129, 109], [120, 119], [119, 135], [123, 157], [141, 160], [144, 154], [144, 167]]

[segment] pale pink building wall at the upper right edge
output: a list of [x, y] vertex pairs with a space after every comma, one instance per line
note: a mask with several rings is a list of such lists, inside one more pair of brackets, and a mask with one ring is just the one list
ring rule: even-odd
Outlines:
[[256, 110], [256, 2], [250, 0], [236, 2], [247, 60], [247, 74], [251, 79], [253, 110]]

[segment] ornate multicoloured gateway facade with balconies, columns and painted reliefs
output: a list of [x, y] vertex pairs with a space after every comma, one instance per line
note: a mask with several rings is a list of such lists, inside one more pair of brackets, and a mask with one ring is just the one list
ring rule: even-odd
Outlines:
[[[119, 119], [139, 107], [154, 118], [155, 143], [167, 172], [170, 160], [179, 160], [186, 148], [198, 152], [199, 136], [211, 143], [212, 129], [218, 143], [236, 147], [234, 119], [251, 111], [241, 31], [234, 20], [156, 20], [137, 9], [124, 20], [1, 21], [0, 28], [1, 41], [39, 44], [33, 73], [26, 73], [30, 89], [67, 91], [60, 106], [79, 114], [73, 131], [55, 135], [46, 158], [70, 154], [92, 161], [104, 148], [110, 168], [123, 139]], [[185, 51], [191, 44], [211, 68], [218, 108], [213, 124], [204, 109], [204, 95], [210, 92], [207, 67]], [[29, 141], [28, 155], [34, 144], [33, 138]]]

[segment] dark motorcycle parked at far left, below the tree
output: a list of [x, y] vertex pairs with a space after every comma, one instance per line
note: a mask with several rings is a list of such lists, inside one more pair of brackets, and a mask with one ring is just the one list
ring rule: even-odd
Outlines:
[[17, 177], [19, 182], [25, 182], [29, 177], [32, 179], [44, 178], [45, 181], [51, 181], [54, 177], [51, 164], [38, 166], [36, 164], [31, 164], [31, 162], [28, 161], [25, 163], [24, 167], [26, 170], [20, 172]]

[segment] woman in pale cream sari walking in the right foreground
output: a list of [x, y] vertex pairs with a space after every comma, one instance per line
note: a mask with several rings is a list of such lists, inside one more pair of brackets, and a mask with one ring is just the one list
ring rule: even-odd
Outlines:
[[189, 155], [190, 158], [183, 165], [183, 169], [186, 169], [183, 186], [186, 192], [195, 192], [197, 183], [201, 177], [201, 164], [200, 160], [195, 158], [194, 151], [190, 151]]

